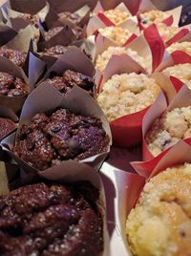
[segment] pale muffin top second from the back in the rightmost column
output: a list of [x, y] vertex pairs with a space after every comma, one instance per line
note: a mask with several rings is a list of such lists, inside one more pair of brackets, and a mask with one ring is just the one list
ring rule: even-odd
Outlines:
[[180, 32], [180, 28], [166, 26], [163, 23], [158, 23], [157, 28], [159, 30], [159, 35], [161, 36], [164, 42], [167, 42], [172, 37], [174, 37], [178, 32]]

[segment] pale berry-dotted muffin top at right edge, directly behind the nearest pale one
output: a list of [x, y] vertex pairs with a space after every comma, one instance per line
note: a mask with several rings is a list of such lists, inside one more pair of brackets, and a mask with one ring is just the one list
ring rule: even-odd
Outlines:
[[176, 144], [180, 139], [191, 137], [191, 106], [175, 108], [157, 118], [148, 133], [146, 143], [153, 156]]

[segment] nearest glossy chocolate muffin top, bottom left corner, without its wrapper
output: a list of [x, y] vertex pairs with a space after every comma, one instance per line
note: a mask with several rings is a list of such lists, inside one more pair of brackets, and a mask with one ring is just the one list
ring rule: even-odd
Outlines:
[[[86, 190], [91, 193], [88, 199]], [[81, 181], [40, 182], [0, 197], [0, 255], [98, 255], [103, 224], [94, 203], [97, 196], [91, 183]]]

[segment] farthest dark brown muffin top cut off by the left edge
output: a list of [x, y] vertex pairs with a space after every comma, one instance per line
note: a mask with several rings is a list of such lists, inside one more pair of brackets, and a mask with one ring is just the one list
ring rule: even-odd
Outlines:
[[17, 66], [23, 66], [27, 53], [22, 52], [22, 51], [16, 51], [12, 50], [10, 48], [1, 48], [0, 49], [0, 56], [6, 57], [11, 60], [15, 65]]

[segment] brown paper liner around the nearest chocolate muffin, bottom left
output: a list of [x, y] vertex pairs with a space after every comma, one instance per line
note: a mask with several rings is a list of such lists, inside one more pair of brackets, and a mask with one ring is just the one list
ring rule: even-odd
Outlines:
[[[9, 170], [6, 170], [6, 166], [4, 162], [0, 162], [0, 195], [6, 195], [10, 192], [11, 187], [19, 187], [23, 185], [29, 185], [31, 183], [37, 182], [50, 182], [53, 181], [54, 183], [58, 184], [71, 184], [73, 185], [74, 182], [77, 181], [89, 181], [91, 182], [96, 189], [98, 189], [99, 197], [96, 200], [96, 205], [99, 209], [99, 212], [102, 216], [103, 221], [103, 252], [99, 254], [99, 256], [109, 256], [110, 255], [110, 241], [109, 235], [107, 230], [107, 209], [106, 209], [106, 199], [105, 199], [105, 191], [104, 186], [99, 178], [98, 174], [96, 173], [95, 169], [88, 166], [85, 163], [79, 162], [68, 162], [67, 169], [63, 172], [63, 164], [56, 166], [53, 170], [49, 169], [38, 173], [34, 176], [26, 175], [25, 172], [18, 178], [16, 181], [12, 181], [10, 183], [10, 176], [9, 171], [12, 172], [16, 171], [13, 169], [12, 166]], [[18, 172], [19, 170], [17, 170]], [[24, 170], [25, 171], [25, 170]]]

